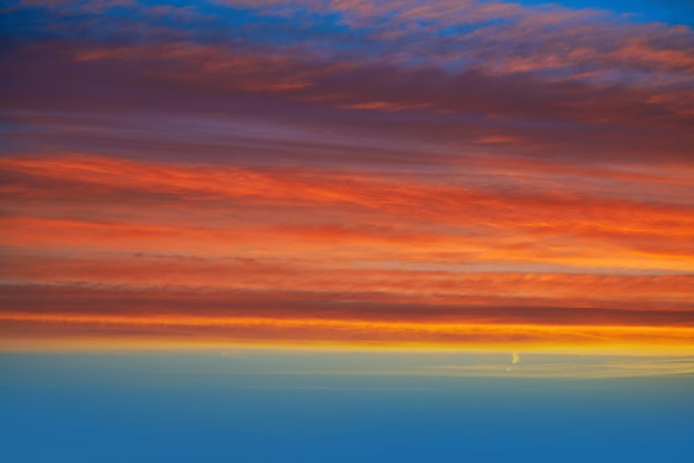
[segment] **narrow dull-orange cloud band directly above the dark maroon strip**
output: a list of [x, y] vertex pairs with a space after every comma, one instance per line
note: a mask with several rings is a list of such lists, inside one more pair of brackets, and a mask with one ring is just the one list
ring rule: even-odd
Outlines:
[[[480, 317], [496, 310], [494, 318], [513, 316], [509, 308], [537, 309], [538, 320], [548, 317], [548, 308], [562, 316], [563, 309], [585, 309], [584, 317], [612, 317], [621, 322], [639, 323], [651, 313], [663, 312], [663, 318], [651, 322], [667, 323], [673, 313], [682, 311], [678, 322], [688, 322], [687, 310], [694, 300], [694, 277], [691, 275], [591, 275], [565, 272], [508, 272], [344, 268], [335, 263], [308, 259], [277, 260], [244, 258], [202, 258], [186, 256], [135, 255], [91, 258], [8, 256], [0, 279], [14, 285], [75, 285], [88, 282], [95, 289], [112, 287], [150, 288], [164, 291], [204, 290], [215, 292], [220, 300], [238, 299], [220, 291], [263, 291], [279, 296], [302, 291], [306, 298], [359, 299], [363, 302], [426, 303], [427, 317]], [[165, 294], [165, 292], [164, 292]], [[312, 296], [313, 295], [313, 296]], [[247, 295], [246, 295], [247, 296]], [[279, 296], [280, 297], [280, 296]], [[243, 296], [239, 306], [243, 306]], [[463, 308], [479, 310], [463, 310]], [[605, 312], [602, 309], [620, 308]], [[592, 313], [589, 309], [594, 310]], [[601, 311], [602, 310], [602, 311]], [[630, 312], [629, 310], [632, 310]], [[359, 310], [346, 310], [359, 317]], [[368, 313], [367, 313], [368, 315]], [[564, 310], [572, 317], [572, 311]], [[533, 312], [524, 312], [534, 317]], [[396, 312], [390, 317], [407, 319], [417, 313]], [[423, 317], [423, 318], [427, 318]], [[670, 318], [669, 318], [670, 317]], [[601, 320], [595, 320], [595, 322]], [[694, 319], [693, 319], [694, 321]], [[602, 322], [602, 321], [601, 321]]]

